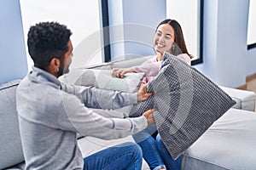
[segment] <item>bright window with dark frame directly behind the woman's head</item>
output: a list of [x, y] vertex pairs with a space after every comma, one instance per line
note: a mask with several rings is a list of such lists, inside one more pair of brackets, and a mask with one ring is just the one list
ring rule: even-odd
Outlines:
[[192, 65], [202, 62], [203, 0], [166, 0], [166, 18], [182, 26]]

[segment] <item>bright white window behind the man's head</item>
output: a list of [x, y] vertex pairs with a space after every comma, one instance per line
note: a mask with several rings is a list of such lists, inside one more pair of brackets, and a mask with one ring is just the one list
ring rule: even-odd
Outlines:
[[[57, 21], [73, 32], [71, 67], [103, 62], [100, 1], [20, 0], [20, 8], [25, 41], [30, 26], [40, 21]], [[28, 52], [26, 55], [28, 68], [31, 69], [32, 59]]]

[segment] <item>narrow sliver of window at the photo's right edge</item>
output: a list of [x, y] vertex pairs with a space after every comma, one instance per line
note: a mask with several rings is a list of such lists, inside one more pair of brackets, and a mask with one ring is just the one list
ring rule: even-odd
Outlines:
[[250, 0], [248, 30], [247, 30], [247, 49], [256, 47], [256, 0]]

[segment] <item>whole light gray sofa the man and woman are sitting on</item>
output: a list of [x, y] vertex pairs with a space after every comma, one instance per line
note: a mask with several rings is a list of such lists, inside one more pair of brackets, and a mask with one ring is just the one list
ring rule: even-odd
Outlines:
[[[141, 64], [145, 59], [148, 57], [87, 68], [130, 67]], [[0, 84], [0, 169], [24, 169], [25, 166], [15, 110], [15, 89], [18, 83], [19, 80]], [[253, 156], [256, 153], [256, 123], [253, 123], [256, 121], [256, 114], [253, 112], [255, 94], [245, 90], [222, 88], [236, 100], [237, 104], [234, 105], [236, 109], [227, 111], [186, 150], [182, 156], [182, 168], [185, 170], [255, 169], [256, 167], [256, 158]], [[84, 156], [125, 141], [133, 141], [133, 139], [131, 136], [116, 140], [91, 137], [78, 139]], [[143, 169], [148, 169], [145, 161]]]

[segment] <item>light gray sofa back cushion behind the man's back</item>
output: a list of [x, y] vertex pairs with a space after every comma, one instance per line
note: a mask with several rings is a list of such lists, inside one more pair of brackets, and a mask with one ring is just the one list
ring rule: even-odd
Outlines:
[[16, 88], [20, 80], [0, 85], [0, 169], [24, 161], [18, 113]]

